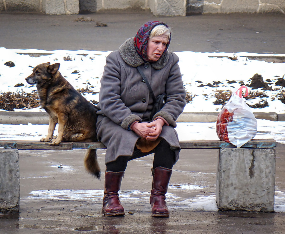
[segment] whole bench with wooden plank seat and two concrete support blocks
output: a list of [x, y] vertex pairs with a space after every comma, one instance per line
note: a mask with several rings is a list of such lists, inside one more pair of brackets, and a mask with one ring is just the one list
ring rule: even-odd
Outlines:
[[[237, 148], [224, 141], [180, 141], [182, 149], [219, 149], [216, 202], [221, 211], [274, 211], [273, 139], [252, 140]], [[106, 149], [100, 142], [0, 141], [0, 212], [19, 212], [19, 149]]]

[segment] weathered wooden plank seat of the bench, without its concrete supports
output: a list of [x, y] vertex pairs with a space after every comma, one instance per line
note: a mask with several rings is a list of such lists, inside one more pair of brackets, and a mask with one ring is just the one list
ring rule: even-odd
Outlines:
[[[182, 149], [219, 149], [236, 148], [234, 145], [225, 141], [180, 141]], [[49, 142], [40, 141], [0, 141], [0, 147], [10, 147], [17, 149], [43, 149], [43, 150], [72, 150], [72, 149], [106, 149], [101, 142], [61, 142], [59, 145], [50, 145]], [[252, 140], [243, 145], [242, 148], [272, 148], [276, 147], [274, 139]]]

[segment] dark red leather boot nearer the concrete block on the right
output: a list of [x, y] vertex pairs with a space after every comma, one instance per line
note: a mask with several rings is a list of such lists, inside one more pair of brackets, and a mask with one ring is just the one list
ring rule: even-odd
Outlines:
[[[154, 171], [154, 172], [153, 172]], [[169, 210], [166, 206], [165, 194], [172, 170], [165, 167], [156, 167], [153, 172], [152, 190], [150, 192], [150, 205], [152, 217], [169, 217]]]

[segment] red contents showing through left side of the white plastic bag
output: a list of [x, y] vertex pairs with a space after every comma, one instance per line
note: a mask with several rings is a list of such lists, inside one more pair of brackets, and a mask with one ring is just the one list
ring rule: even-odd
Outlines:
[[233, 113], [229, 113], [227, 109], [220, 112], [217, 117], [217, 135], [221, 141], [229, 142], [227, 125], [233, 121]]

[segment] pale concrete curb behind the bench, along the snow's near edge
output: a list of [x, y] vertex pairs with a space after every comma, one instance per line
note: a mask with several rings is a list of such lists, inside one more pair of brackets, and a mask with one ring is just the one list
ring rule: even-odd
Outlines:
[[[217, 121], [217, 112], [193, 112], [182, 113], [177, 123], [211, 123]], [[257, 119], [266, 119], [270, 121], [285, 121], [285, 114], [275, 112], [253, 113]], [[21, 111], [0, 111], [0, 124], [49, 124], [48, 113], [46, 112], [21, 112]]]

